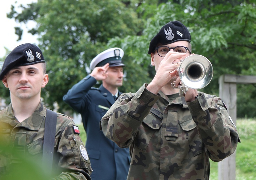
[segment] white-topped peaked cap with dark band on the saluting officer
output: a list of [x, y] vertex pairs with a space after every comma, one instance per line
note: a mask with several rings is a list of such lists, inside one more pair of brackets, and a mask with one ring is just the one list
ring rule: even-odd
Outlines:
[[125, 66], [122, 62], [124, 51], [121, 48], [113, 47], [98, 54], [90, 63], [90, 69], [95, 67], [104, 66], [109, 63], [109, 67]]

